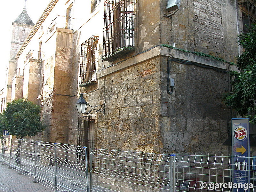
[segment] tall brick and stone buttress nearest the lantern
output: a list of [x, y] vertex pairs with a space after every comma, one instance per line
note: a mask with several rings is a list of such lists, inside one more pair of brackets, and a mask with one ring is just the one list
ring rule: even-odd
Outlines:
[[[48, 68], [46, 84], [53, 89], [50, 105], [49, 99], [43, 102], [42, 119], [49, 124], [43, 137], [50, 142], [68, 143], [73, 35], [69, 29], [57, 28], [56, 33], [55, 60], [45, 65]], [[50, 112], [44, 114], [47, 110]]]

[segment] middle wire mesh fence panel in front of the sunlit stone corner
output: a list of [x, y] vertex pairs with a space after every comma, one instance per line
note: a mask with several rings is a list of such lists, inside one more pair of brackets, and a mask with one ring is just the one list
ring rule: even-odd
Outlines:
[[169, 191], [169, 178], [169, 155], [92, 150], [92, 191]]

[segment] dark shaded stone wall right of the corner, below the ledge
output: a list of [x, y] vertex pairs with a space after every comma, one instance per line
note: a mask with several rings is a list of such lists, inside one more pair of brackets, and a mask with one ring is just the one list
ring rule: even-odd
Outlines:
[[[168, 58], [161, 62], [161, 137], [166, 153], [211, 152], [227, 150], [230, 109], [222, 102], [228, 92], [227, 73], [196, 65], [172, 62], [173, 93], [166, 90]], [[171, 90], [171, 88], [170, 88]]]

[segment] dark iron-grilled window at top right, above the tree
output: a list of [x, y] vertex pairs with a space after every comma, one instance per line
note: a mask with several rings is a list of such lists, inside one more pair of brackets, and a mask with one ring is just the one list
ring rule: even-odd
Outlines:
[[242, 32], [247, 33], [256, 22], [256, 6], [251, 1], [240, 1]]

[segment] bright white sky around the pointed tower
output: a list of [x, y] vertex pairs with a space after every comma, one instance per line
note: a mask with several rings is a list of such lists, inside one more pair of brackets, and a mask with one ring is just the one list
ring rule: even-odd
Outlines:
[[[25, 5], [25, 0], [2, 0], [1, 3], [1, 47], [0, 47], [0, 89], [4, 87], [6, 63], [10, 58], [10, 44], [12, 34], [12, 22], [19, 17]], [[26, 8], [28, 16], [36, 24], [50, 0], [27, 0]]]

